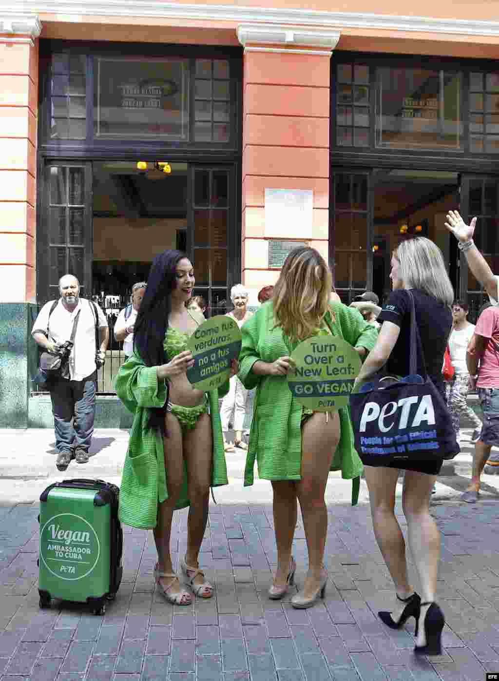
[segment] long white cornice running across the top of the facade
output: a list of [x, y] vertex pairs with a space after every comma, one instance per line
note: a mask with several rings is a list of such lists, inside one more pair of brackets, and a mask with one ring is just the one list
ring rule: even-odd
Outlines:
[[[470, 14], [473, 5], [470, 3]], [[0, 14], [52, 14], [65, 21], [81, 22], [86, 16], [123, 16], [176, 20], [230, 21], [240, 23], [291, 24], [322, 29], [368, 29], [407, 31], [409, 33], [448, 33], [499, 37], [499, 21], [434, 18], [428, 16], [391, 16], [355, 12], [319, 12], [288, 7], [244, 7], [164, 2], [163, 0], [0, 0]]]

